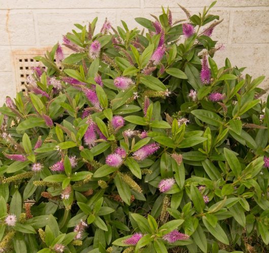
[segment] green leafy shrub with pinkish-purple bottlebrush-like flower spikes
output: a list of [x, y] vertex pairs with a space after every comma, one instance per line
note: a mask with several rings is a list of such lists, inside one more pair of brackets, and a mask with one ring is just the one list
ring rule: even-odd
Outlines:
[[214, 4], [36, 57], [0, 108], [0, 252], [269, 250], [264, 77], [217, 66]]

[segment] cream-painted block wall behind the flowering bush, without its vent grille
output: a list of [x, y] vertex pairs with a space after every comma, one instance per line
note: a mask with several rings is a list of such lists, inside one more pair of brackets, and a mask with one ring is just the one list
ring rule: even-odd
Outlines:
[[[169, 6], [174, 19], [185, 18], [178, 3], [191, 13], [203, 11], [211, 0], [0, 0], [0, 104], [5, 96], [15, 96], [16, 81], [12, 52], [45, 48], [61, 42], [61, 36], [74, 28], [74, 23], [87, 24], [98, 16], [98, 27], [106, 17], [113, 25], [120, 20], [129, 27], [137, 26], [135, 17], [160, 14]], [[233, 65], [247, 67], [255, 77], [269, 80], [269, 0], [219, 0], [213, 14], [224, 18], [213, 39], [225, 49], [216, 54], [221, 66], [226, 57]]]

